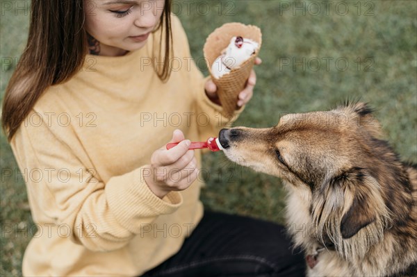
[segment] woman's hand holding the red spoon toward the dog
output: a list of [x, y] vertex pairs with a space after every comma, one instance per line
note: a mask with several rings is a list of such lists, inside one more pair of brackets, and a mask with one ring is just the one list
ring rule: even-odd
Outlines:
[[152, 174], [147, 174], [145, 182], [161, 199], [168, 192], [186, 190], [197, 178], [194, 150], [188, 150], [190, 140], [184, 138], [181, 131], [175, 130], [170, 142], [180, 143], [170, 150], [164, 145], [152, 153], [149, 165]]

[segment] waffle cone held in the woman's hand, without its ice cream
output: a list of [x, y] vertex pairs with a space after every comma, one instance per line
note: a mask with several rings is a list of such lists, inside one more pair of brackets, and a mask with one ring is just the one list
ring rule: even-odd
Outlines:
[[[258, 48], [255, 50], [255, 53], [238, 68], [231, 69], [228, 74], [224, 74], [220, 78], [215, 78], [211, 71], [213, 62], [229, 45], [231, 37], [237, 36], [257, 42], [259, 44]], [[211, 79], [218, 87], [218, 96], [222, 103], [223, 114], [227, 117], [233, 115], [233, 112], [238, 108], [238, 94], [245, 88], [247, 78], [249, 78], [252, 67], [254, 66], [254, 60], [261, 49], [261, 42], [261, 29], [256, 26], [237, 22], [227, 23], [216, 28], [206, 39], [206, 44], [204, 44], [203, 49], [204, 58]]]

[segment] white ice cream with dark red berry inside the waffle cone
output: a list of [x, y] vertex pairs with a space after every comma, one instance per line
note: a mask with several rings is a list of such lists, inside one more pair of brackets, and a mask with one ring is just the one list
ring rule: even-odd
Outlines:
[[259, 44], [248, 38], [232, 37], [229, 46], [222, 55], [215, 59], [211, 73], [215, 78], [228, 74], [231, 69], [239, 67], [256, 51]]

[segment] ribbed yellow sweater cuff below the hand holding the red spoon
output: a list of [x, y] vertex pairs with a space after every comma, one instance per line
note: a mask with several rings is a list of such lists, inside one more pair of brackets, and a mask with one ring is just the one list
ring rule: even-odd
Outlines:
[[111, 178], [105, 187], [109, 208], [117, 221], [132, 233], [140, 233], [141, 224], [175, 212], [183, 203], [179, 192], [170, 192], [160, 199], [149, 189], [143, 176], [144, 168], [140, 167]]

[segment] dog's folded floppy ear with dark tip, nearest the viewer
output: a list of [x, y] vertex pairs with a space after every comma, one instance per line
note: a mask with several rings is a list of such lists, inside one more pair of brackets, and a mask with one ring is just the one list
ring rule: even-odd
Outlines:
[[338, 185], [345, 186], [345, 214], [341, 219], [343, 239], [355, 234], [377, 219], [376, 211], [384, 204], [379, 194], [379, 184], [363, 169], [353, 168], [339, 176]]

